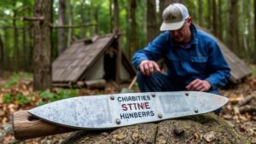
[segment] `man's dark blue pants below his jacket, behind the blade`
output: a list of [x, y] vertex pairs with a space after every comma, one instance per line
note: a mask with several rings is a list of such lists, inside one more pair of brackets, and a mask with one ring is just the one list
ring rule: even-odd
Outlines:
[[[162, 74], [160, 72], [154, 73], [153, 76], [145, 76], [141, 72], [137, 74], [137, 84], [142, 92], [152, 92], [152, 91], [184, 91], [187, 90], [184, 86], [174, 84], [172, 79]], [[218, 89], [211, 89], [207, 91], [208, 93], [220, 95]], [[220, 112], [218, 110], [214, 111], [217, 115]]]

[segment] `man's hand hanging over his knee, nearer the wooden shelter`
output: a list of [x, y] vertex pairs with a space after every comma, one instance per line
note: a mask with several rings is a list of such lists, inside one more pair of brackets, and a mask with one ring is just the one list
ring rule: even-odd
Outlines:
[[152, 76], [154, 72], [160, 72], [160, 68], [153, 60], [143, 60], [140, 63], [140, 71], [147, 76]]

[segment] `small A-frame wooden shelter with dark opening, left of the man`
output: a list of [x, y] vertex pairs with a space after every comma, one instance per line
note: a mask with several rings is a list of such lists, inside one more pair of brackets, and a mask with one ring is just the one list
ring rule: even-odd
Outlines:
[[101, 86], [108, 80], [130, 82], [136, 72], [125, 55], [119, 53], [118, 45], [113, 34], [74, 42], [53, 62], [54, 86]]

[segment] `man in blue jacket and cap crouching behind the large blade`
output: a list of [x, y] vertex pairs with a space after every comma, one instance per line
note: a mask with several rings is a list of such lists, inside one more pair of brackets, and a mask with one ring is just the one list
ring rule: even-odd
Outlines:
[[[162, 32], [133, 56], [139, 70], [138, 86], [143, 92], [193, 90], [218, 94], [230, 77], [230, 67], [218, 43], [192, 24], [188, 9], [170, 4], [163, 12]], [[160, 72], [157, 60], [163, 58], [167, 73]]]

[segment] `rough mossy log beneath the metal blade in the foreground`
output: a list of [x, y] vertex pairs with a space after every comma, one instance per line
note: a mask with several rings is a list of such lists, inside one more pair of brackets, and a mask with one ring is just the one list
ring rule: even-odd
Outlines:
[[117, 130], [79, 131], [64, 144], [72, 143], [249, 143], [234, 128], [213, 113], [137, 124]]

